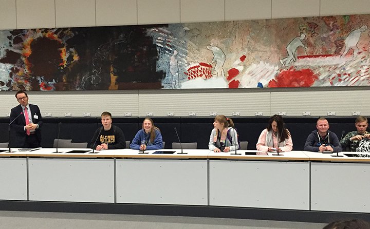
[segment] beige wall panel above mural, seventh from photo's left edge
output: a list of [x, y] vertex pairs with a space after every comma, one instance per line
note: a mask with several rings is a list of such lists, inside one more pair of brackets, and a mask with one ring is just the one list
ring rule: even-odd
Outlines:
[[225, 0], [225, 21], [271, 18], [271, 0]]

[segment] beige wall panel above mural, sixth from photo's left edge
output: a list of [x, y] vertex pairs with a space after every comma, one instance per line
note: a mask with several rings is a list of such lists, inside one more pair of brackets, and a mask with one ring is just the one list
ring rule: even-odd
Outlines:
[[225, 0], [181, 0], [181, 23], [225, 20]]

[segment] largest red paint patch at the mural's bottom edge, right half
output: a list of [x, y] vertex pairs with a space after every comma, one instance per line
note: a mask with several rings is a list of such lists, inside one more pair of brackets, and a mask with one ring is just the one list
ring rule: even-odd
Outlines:
[[268, 87], [310, 87], [317, 79], [318, 76], [311, 69], [295, 70], [291, 67], [281, 71], [268, 83]]

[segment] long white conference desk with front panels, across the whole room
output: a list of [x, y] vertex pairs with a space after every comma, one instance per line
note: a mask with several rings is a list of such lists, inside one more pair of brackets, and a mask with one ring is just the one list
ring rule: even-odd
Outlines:
[[70, 150], [0, 152], [0, 199], [370, 213], [370, 158], [346, 152]]

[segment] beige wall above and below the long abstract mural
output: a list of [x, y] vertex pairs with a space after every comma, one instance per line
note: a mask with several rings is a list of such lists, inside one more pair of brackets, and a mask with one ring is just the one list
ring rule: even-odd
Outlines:
[[[0, 29], [142, 25], [370, 13], [370, 0], [0, 0]], [[368, 87], [219, 90], [30, 92], [30, 103], [52, 116], [370, 116]], [[0, 92], [0, 117], [17, 105], [14, 92]], [[354, 101], [360, 101], [356, 103]], [[363, 105], [362, 105], [362, 104]]]

